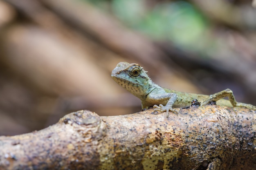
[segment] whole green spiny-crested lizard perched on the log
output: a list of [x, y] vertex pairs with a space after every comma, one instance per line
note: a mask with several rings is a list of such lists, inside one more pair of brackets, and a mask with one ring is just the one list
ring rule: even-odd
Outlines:
[[[154, 112], [166, 111], [177, 113], [173, 107], [187, 107], [191, 105], [191, 101], [197, 99], [201, 106], [215, 101], [217, 105], [245, 107], [256, 110], [256, 106], [236, 102], [233, 92], [230, 89], [215, 93], [213, 95], [200, 95], [194, 93], [185, 93], [162, 88], [152, 82], [148, 77], [147, 71], [139, 64], [129, 64], [128, 62], [119, 62], [111, 73], [111, 77], [127, 91], [141, 99], [142, 109], [153, 106]], [[222, 99], [228, 97], [229, 100]], [[157, 106], [159, 105], [159, 106]], [[164, 106], [165, 105], [165, 106]]]

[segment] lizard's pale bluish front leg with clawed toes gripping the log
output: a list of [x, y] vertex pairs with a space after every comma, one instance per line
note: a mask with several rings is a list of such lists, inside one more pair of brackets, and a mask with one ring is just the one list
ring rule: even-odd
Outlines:
[[163, 106], [162, 104], [159, 104], [159, 106], [154, 105], [153, 106], [153, 108], [155, 108], [154, 113], [156, 111], [159, 111], [159, 112], [165, 112], [166, 111], [166, 117], [168, 117], [169, 111], [177, 113], [177, 111], [172, 108], [174, 102], [177, 100], [177, 94], [176, 93], [164, 93], [162, 95], [160, 95], [160, 94], [150, 94], [148, 96], [148, 100], [155, 101], [153, 103], [162, 103], [162, 104], [166, 103], [165, 106]]

